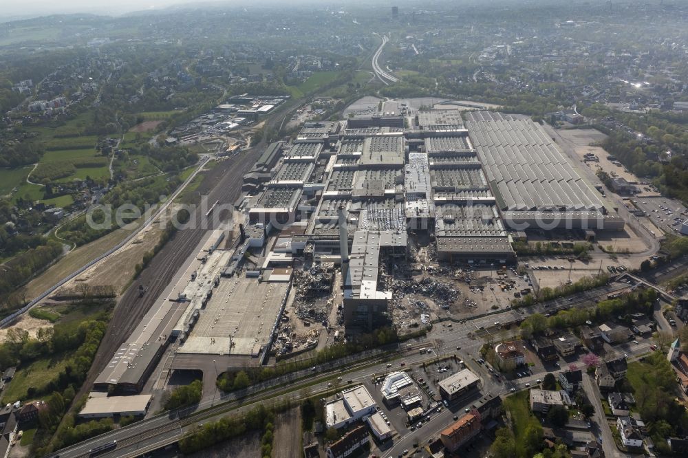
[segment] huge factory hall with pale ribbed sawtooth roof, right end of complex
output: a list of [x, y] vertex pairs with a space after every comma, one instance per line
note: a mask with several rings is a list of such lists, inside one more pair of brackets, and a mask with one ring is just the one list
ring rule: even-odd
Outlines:
[[471, 142], [507, 225], [620, 230], [612, 213], [544, 129], [519, 116], [466, 115]]

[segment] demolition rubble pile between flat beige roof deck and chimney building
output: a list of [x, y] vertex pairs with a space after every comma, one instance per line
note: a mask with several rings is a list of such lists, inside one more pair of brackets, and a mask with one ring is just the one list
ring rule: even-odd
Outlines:
[[294, 270], [294, 309], [303, 323], [327, 319], [332, 300], [335, 269], [332, 263], [314, 265], [310, 270]]

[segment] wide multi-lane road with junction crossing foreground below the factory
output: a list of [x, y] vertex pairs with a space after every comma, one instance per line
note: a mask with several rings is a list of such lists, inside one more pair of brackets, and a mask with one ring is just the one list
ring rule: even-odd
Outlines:
[[[494, 377], [491, 377], [490, 373], [488, 373], [484, 367], [478, 367], [475, 362], [471, 362], [471, 359], [478, 357], [477, 351], [484, 342], [483, 337], [488, 336], [488, 334], [493, 331], [497, 331], [499, 327], [503, 327], [508, 323], [515, 323], [522, 320], [524, 316], [537, 312], [553, 312], [557, 309], [592, 305], [594, 298], [599, 296], [606, 298], [607, 294], [623, 290], [627, 287], [628, 285], [626, 283], [611, 283], [610, 285], [577, 294], [577, 296], [560, 298], [548, 303], [524, 308], [522, 309], [523, 313], [519, 312], [517, 309], [509, 309], [489, 316], [482, 316], [475, 319], [469, 318], [456, 325], [453, 324], [452, 327], [448, 325], [435, 325], [429, 336], [422, 338], [422, 345], [434, 347], [436, 353], [439, 355], [457, 354], [459, 358], [464, 359], [466, 363], [469, 364], [471, 370], [482, 376], [484, 380], [484, 389], [487, 389], [488, 392], [493, 394], [504, 393], [506, 389], [510, 388], [511, 385], [508, 384], [510, 382], [497, 386]], [[499, 325], [495, 325], [496, 322], [499, 322]], [[481, 327], [484, 329], [480, 329]], [[457, 346], [462, 347], [461, 351], [456, 351], [455, 348]], [[640, 348], [638, 348], [638, 351], [639, 350]], [[363, 356], [357, 355], [351, 357], [350, 361], [347, 362], [338, 360], [328, 364], [322, 364], [316, 368], [316, 375], [313, 375], [312, 371], [306, 370], [297, 374], [287, 375], [284, 378], [270, 380], [270, 382], [266, 382], [262, 386], [256, 387], [264, 391], [247, 395], [241, 399], [238, 399], [235, 394], [223, 395], [222, 399], [218, 399], [217, 402], [213, 399], [211, 402], [205, 402], [199, 406], [189, 408], [188, 413], [182, 415], [182, 419], [167, 414], [157, 415], [150, 419], [145, 419], [135, 424], [131, 424], [130, 426], [126, 426], [125, 428], [120, 428], [110, 433], [105, 433], [104, 435], [89, 439], [80, 444], [76, 444], [76, 446], [59, 450], [58, 455], [62, 458], [87, 456], [88, 450], [91, 448], [112, 440], [118, 441], [116, 449], [111, 452], [103, 453], [102, 456], [120, 458], [140, 455], [146, 450], [155, 450], [155, 448], [159, 448], [160, 446], [172, 444], [178, 441], [185, 432], [193, 429], [195, 424], [218, 419], [223, 415], [227, 415], [230, 411], [243, 411], [245, 408], [250, 408], [257, 402], [264, 402], [268, 399], [270, 402], [286, 399], [298, 400], [305, 387], [308, 387], [308, 396], [312, 396], [315, 393], [325, 393], [328, 391], [327, 382], [331, 382], [337, 376], [343, 376], [347, 379], [350, 378], [354, 380], [354, 382], [363, 382], [364, 380], [370, 380], [373, 374], [380, 375], [381, 373], [389, 371], [389, 369], [387, 369], [387, 362], [390, 358], [393, 358], [393, 356], [385, 357], [379, 350], [377, 354], [374, 352], [375, 351], [369, 351]], [[398, 352], [395, 356], [396, 358], [403, 357], [404, 362], [409, 366], [421, 362], [429, 362], [436, 358], [434, 355], [428, 355], [427, 353], [421, 355], [416, 351]], [[354, 362], [363, 357], [374, 357], [375, 361]], [[341, 367], [346, 367], [347, 369], [342, 370]], [[345, 376], [343, 375], [344, 373], [346, 374]], [[330, 391], [331, 390], [332, 389], [330, 389]], [[255, 389], [253, 391], [255, 391]], [[246, 393], [241, 394], [245, 395]], [[447, 409], [444, 410], [446, 411]], [[184, 415], [186, 415], [186, 417], [184, 417]], [[436, 417], [439, 418], [447, 416], [451, 415], [449, 415], [449, 413], [436, 415]], [[438, 427], [447, 426], [448, 422], [442, 422], [440, 419], [431, 419], [430, 425], [433, 426], [435, 424], [438, 425]], [[426, 433], [431, 429], [432, 428], [427, 428]], [[412, 436], [409, 435], [409, 437]]]

